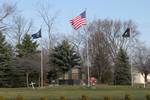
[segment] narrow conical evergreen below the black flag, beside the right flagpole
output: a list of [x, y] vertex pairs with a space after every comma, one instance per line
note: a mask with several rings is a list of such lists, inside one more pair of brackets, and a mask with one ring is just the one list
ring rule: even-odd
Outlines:
[[115, 85], [129, 85], [131, 84], [131, 71], [129, 66], [129, 58], [127, 53], [122, 48], [119, 50], [114, 72]]

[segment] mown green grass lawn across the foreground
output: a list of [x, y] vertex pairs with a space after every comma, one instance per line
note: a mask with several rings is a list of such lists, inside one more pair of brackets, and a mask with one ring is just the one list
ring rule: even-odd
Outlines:
[[81, 86], [57, 86], [43, 89], [27, 88], [0, 88], [0, 96], [6, 100], [15, 100], [21, 95], [25, 100], [40, 100], [40, 97], [48, 97], [49, 100], [59, 100], [60, 96], [66, 96], [69, 100], [80, 100], [81, 95], [87, 95], [91, 100], [103, 100], [104, 96], [111, 96], [113, 100], [124, 100], [125, 94], [130, 94], [133, 100], [146, 100], [146, 94], [150, 94], [150, 88], [132, 88], [128, 86], [97, 86], [87, 88]]

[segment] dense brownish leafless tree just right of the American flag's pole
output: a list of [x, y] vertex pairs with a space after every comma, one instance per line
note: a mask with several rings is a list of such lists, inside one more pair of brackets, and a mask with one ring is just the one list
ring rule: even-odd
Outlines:
[[[101, 83], [111, 81], [111, 62], [109, 46], [103, 33], [95, 33], [90, 36], [89, 55], [91, 60], [91, 74], [98, 78]], [[107, 76], [107, 77], [106, 77]]]

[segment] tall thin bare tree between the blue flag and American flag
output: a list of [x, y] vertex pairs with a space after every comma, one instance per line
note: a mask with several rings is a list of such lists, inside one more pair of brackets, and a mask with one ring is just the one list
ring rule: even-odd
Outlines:
[[[50, 59], [49, 55], [50, 55], [50, 52], [51, 52], [52, 48], [54, 47], [54, 45], [56, 44], [56, 41], [57, 41], [55, 35], [53, 35], [53, 33], [52, 33], [53, 29], [54, 29], [54, 23], [55, 23], [55, 20], [57, 17], [57, 13], [51, 14], [50, 11], [52, 11], [52, 10], [50, 9], [50, 6], [48, 3], [41, 4], [40, 7], [38, 7], [38, 14], [40, 15], [40, 17], [44, 23], [43, 26], [44, 26], [44, 29], [46, 30], [45, 33], [48, 33], [48, 38], [45, 38], [45, 40], [43, 41], [43, 45], [46, 49], [46, 54], [47, 54], [47, 55], [44, 55], [44, 57], [45, 57], [45, 59], [48, 58], [47, 62], [44, 66], [47, 67], [47, 69], [50, 66], [49, 70], [52, 69], [52, 64], [49, 62], [49, 59]], [[47, 72], [49, 70], [47, 70]]]

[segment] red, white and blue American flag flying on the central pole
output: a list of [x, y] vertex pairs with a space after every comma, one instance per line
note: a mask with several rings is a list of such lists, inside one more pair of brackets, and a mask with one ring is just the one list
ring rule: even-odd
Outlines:
[[79, 29], [82, 25], [86, 25], [86, 11], [82, 12], [79, 16], [70, 20], [70, 23], [75, 30]]

